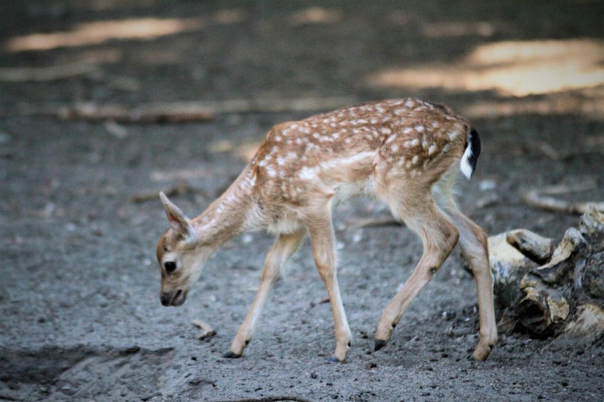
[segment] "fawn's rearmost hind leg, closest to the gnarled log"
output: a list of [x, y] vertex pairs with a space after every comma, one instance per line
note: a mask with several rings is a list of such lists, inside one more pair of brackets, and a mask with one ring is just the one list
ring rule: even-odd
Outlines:
[[480, 340], [474, 351], [474, 359], [486, 360], [497, 343], [497, 324], [493, 306], [493, 279], [488, 263], [487, 237], [485, 231], [466, 217], [452, 200], [447, 202], [444, 212], [459, 230], [459, 246], [474, 274], [479, 302]]

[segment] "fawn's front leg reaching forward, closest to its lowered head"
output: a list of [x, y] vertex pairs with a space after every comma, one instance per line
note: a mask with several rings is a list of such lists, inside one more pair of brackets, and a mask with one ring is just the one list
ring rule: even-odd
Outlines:
[[301, 243], [306, 237], [306, 229], [297, 231], [293, 234], [281, 234], [274, 242], [264, 261], [264, 270], [262, 270], [262, 281], [258, 293], [250, 306], [245, 320], [239, 327], [237, 335], [230, 345], [230, 351], [225, 353], [225, 357], [240, 357], [243, 350], [252, 340], [252, 333], [256, 326], [258, 317], [262, 312], [264, 304], [275, 280], [279, 277], [281, 267], [284, 265], [293, 253], [296, 253]]

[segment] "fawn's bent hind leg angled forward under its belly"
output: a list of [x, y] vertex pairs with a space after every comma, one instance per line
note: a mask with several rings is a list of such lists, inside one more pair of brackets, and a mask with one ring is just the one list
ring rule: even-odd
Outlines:
[[423, 202], [414, 202], [411, 208], [399, 203], [391, 205], [391, 209], [396, 217], [403, 219], [420, 236], [424, 252], [405, 285], [384, 309], [376, 332], [375, 350], [388, 343], [403, 313], [427, 282], [432, 280], [459, 239], [459, 231], [437, 209], [432, 197], [426, 197]]

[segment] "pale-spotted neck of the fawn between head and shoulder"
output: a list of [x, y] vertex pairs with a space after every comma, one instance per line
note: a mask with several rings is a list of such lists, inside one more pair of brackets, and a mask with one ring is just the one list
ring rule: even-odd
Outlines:
[[250, 229], [247, 222], [255, 205], [254, 183], [254, 176], [245, 169], [218, 200], [193, 219], [202, 243], [218, 249], [226, 241]]

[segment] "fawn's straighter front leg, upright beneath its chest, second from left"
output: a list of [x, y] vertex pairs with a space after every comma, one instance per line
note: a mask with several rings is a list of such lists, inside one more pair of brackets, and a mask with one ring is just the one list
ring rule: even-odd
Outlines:
[[309, 226], [311, 235], [311, 246], [313, 258], [319, 271], [319, 275], [328, 291], [331, 311], [335, 327], [336, 347], [333, 355], [328, 359], [330, 362], [345, 362], [350, 350], [352, 333], [348, 327], [346, 313], [340, 297], [340, 288], [337, 285], [336, 258], [335, 258], [335, 235], [330, 214], [325, 214], [318, 222]]

